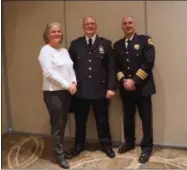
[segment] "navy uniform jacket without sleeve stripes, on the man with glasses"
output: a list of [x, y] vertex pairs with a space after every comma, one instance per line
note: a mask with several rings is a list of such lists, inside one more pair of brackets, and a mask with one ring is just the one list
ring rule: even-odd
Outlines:
[[70, 56], [77, 78], [77, 98], [101, 99], [107, 90], [115, 90], [116, 69], [111, 41], [96, 36], [91, 48], [86, 38], [71, 42]]

